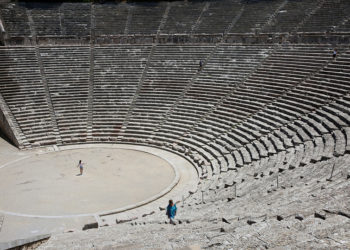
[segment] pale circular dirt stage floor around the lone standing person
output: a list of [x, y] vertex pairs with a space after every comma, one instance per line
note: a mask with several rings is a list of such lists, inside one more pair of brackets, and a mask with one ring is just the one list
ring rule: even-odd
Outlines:
[[[79, 160], [85, 163], [83, 175]], [[174, 178], [167, 161], [137, 150], [88, 148], [36, 154], [0, 169], [0, 210], [36, 216], [98, 213], [146, 200]]]

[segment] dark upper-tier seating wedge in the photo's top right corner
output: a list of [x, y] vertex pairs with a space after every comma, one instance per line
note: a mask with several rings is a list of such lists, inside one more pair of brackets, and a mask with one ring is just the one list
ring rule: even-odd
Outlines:
[[324, 3], [298, 31], [333, 31], [349, 17], [350, 4], [347, 0], [325, 0]]

